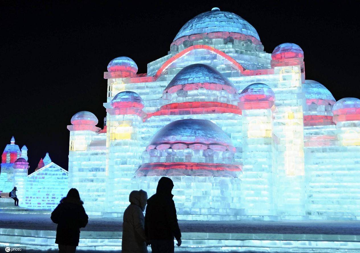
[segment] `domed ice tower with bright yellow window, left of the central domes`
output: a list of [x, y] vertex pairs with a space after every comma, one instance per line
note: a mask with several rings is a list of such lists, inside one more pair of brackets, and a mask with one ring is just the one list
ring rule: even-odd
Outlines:
[[138, 94], [119, 92], [107, 109], [107, 211], [118, 212], [129, 205], [129, 194], [139, 189], [132, 178], [141, 164], [139, 128], [144, 103]]

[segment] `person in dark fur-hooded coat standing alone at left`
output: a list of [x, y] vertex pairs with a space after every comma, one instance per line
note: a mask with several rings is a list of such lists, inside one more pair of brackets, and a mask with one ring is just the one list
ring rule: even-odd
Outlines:
[[51, 220], [58, 224], [55, 243], [59, 253], [74, 253], [79, 245], [80, 227], [85, 227], [88, 221], [82, 204], [77, 189], [71, 188], [51, 213]]

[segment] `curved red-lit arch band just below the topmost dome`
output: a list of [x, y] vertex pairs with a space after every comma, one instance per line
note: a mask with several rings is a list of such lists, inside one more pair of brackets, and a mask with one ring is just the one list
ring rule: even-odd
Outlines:
[[191, 50], [195, 50], [195, 49], [207, 49], [209, 51], [212, 51], [222, 57], [224, 57], [225, 59], [227, 59], [229, 62], [233, 63], [235, 65], [235, 67], [240, 71], [240, 73], [244, 74], [245, 68], [238, 63], [234, 58], [231, 58], [229, 55], [221, 52], [218, 49], [212, 48], [211, 46], [207, 46], [207, 45], [194, 45], [194, 46], [190, 46], [189, 48], [181, 51], [180, 53], [174, 55], [173, 57], [171, 57], [170, 59], [168, 59], [164, 64], [162, 64], [161, 68], [159, 68], [159, 70], [156, 72], [155, 74], [155, 79], [159, 78], [159, 76], [162, 74], [162, 72], [170, 66], [170, 64], [172, 62], [174, 62], [176, 59], [179, 59], [181, 56], [189, 53]]

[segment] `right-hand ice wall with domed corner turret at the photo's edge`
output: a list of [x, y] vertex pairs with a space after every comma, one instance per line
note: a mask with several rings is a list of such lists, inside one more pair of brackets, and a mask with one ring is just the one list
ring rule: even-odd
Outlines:
[[[307, 129], [307, 209], [311, 218], [359, 216], [360, 100], [343, 98], [332, 107], [334, 125]], [[307, 136], [305, 136], [307, 137]]]

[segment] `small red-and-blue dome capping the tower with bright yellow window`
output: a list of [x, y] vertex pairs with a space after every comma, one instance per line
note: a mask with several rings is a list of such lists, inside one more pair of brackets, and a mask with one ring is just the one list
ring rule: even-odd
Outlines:
[[134, 91], [122, 91], [116, 94], [111, 100], [111, 106], [113, 108], [138, 107], [142, 109], [144, 108], [144, 101], [139, 94]]

